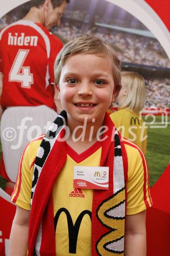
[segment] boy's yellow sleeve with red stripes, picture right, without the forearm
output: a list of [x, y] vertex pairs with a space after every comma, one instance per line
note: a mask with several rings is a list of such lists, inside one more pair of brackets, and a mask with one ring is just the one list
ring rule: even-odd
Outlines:
[[127, 215], [138, 214], [152, 206], [147, 161], [134, 143], [124, 141], [128, 156]]

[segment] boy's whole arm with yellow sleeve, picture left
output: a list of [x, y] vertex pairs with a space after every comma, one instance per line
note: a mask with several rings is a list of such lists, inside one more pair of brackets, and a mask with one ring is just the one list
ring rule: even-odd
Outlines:
[[33, 166], [31, 168], [31, 165], [37, 154], [40, 141], [29, 142], [19, 161], [17, 180], [11, 196], [11, 201], [17, 206], [10, 234], [9, 256], [27, 255], [32, 171], [34, 168]]

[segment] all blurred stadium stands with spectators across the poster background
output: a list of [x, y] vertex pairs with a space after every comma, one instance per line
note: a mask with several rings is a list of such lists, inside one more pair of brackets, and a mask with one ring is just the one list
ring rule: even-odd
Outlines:
[[[105, 39], [115, 49], [122, 63], [133, 63], [140, 66], [154, 67], [154, 69], [169, 69], [170, 60], [153, 35], [144, 36], [134, 31], [149, 32], [135, 17], [126, 11], [106, 1], [97, 0], [80, 5], [78, 0], [72, 0], [67, 9], [62, 25], [53, 29], [64, 43], [82, 33], [93, 33]], [[30, 2], [23, 4], [0, 19], [0, 29], [23, 17], [30, 8]], [[102, 25], [106, 27], [103, 27]], [[113, 26], [110, 28], [109, 26]], [[128, 28], [127, 31], [121, 31]], [[124, 69], [123, 65], [123, 69]], [[133, 70], [133, 68], [132, 68]], [[143, 74], [142, 74], [143, 75]], [[146, 81], [147, 99], [145, 107], [170, 108], [170, 77], [144, 76]]]

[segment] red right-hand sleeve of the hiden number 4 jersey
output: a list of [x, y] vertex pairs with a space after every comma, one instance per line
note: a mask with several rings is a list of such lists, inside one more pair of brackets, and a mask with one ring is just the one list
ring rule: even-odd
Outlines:
[[50, 43], [51, 43], [51, 53], [49, 58], [49, 73], [50, 73], [50, 82], [54, 84], [55, 77], [54, 77], [54, 63], [57, 57], [57, 54], [63, 48], [62, 42], [58, 39], [57, 36], [51, 34], [50, 36]]

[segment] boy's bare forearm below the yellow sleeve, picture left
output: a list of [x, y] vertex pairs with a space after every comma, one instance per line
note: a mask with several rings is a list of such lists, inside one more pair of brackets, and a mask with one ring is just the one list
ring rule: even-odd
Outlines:
[[25, 256], [28, 248], [30, 211], [17, 206], [12, 224], [8, 255]]

